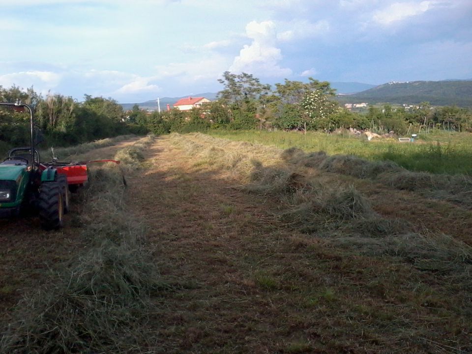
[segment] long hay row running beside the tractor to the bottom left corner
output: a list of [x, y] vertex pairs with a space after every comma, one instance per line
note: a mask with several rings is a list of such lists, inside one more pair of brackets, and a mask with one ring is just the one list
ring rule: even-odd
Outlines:
[[[141, 154], [152, 139], [133, 148]], [[140, 163], [128, 152], [117, 153], [129, 157], [124, 166]], [[126, 212], [115, 164], [93, 169], [91, 178], [79, 217], [92, 247], [20, 302], [1, 353], [141, 353], [151, 340], [141, 328], [149, 295], [168, 287], [146, 244], [146, 227]]]

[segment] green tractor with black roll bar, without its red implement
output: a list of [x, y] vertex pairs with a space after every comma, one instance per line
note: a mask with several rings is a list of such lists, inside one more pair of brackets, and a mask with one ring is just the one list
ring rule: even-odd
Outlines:
[[63, 215], [69, 209], [69, 188], [65, 173], [51, 164], [42, 164], [35, 146], [38, 130], [35, 130], [33, 111], [29, 105], [0, 102], [1, 107], [17, 111], [29, 111], [29, 147], [13, 148], [0, 163], [0, 217], [13, 218], [21, 212], [39, 215], [46, 230], [62, 226]]

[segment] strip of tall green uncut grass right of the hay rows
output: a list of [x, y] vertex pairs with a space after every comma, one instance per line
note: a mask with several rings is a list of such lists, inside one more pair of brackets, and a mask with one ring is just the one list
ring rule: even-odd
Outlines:
[[349, 136], [308, 132], [210, 131], [208, 134], [236, 141], [274, 146], [323, 150], [329, 155], [356, 155], [371, 161], [390, 160], [411, 171], [472, 175], [472, 134], [437, 132], [420, 135], [415, 143], [395, 140], [367, 141]]

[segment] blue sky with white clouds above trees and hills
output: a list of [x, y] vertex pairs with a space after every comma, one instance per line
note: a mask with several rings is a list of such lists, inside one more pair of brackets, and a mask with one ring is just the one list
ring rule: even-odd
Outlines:
[[0, 86], [120, 103], [261, 82], [472, 79], [471, 0], [0, 0]]

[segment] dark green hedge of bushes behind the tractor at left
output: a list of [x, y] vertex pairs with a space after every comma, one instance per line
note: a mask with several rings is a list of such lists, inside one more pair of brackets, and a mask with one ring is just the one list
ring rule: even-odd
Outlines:
[[[42, 97], [32, 88], [0, 86], [1, 102], [29, 104], [35, 123], [49, 146], [70, 146], [97, 139], [142, 132], [126, 121], [122, 107], [111, 98], [85, 95], [83, 102], [61, 94]], [[0, 150], [28, 146], [29, 115], [14, 109], [0, 109]]]

